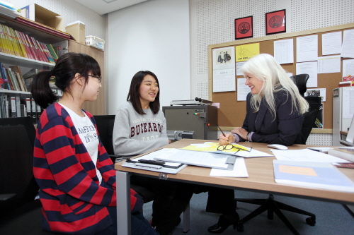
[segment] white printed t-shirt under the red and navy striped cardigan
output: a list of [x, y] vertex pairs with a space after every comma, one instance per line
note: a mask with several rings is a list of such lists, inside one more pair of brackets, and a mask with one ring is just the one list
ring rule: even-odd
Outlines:
[[76, 131], [77, 131], [77, 133], [79, 133], [81, 141], [82, 141], [82, 143], [84, 143], [87, 152], [89, 152], [89, 155], [91, 156], [93, 164], [95, 164], [96, 174], [97, 174], [98, 180], [100, 181], [100, 184], [101, 184], [102, 175], [101, 175], [101, 172], [98, 171], [97, 166], [96, 166], [97, 157], [98, 157], [99, 140], [98, 140], [98, 135], [96, 132], [95, 125], [93, 125], [92, 121], [89, 119], [89, 117], [86, 115], [85, 112], [82, 112], [85, 116], [79, 116], [74, 111], [72, 111], [72, 109], [69, 109], [68, 107], [64, 106], [63, 104], [60, 104], [60, 105], [62, 105], [62, 107], [64, 107], [64, 109], [67, 110], [70, 117], [72, 118], [72, 122], [74, 123]]

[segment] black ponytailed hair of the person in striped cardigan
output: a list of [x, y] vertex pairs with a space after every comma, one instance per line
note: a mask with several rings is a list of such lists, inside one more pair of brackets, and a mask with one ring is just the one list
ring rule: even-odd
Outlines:
[[55, 76], [57, 88], [72, 95], [71, 83], [76, 73], [85, 78], [86, 85], [89, 79], [87, 75], [91, 73], [93, 76], [101, 76], [101, 69], [98, 62], [87, 54], [74, 52], [63, 54], [51, 71], [42, 71], [34, 76], [30, 85], [33, 99], [43, 109], [58, 100], [49, 85], [52, 76]]

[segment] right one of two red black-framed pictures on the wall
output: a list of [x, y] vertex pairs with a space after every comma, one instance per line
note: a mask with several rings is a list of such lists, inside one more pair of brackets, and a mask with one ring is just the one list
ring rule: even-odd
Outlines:
[[265, 34], [286, 32], [285, 9], [265, 13]]

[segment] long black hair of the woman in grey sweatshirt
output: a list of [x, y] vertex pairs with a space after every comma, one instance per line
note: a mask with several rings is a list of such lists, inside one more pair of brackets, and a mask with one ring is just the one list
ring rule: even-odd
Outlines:
[[[135, 111], [138, 114], [145, 114], [144, 110], [142, 109], [142, 103], [140, 102], [140, 84], [142, 84], [142, 80], [144, 80], [144, 77], [147, 75], [151, 75], [156, 79], [156, 83], [159, 84], [159, 80], [157, 79], [155, 73], [152, 73], [150, 71], [139, 71], [135, 73], [135, 76], [132, 78], [132, 82], [130, 83], [130, 89], [129, 93], [127, 95], [127, 101], [130, 101], [132, 103], [132, 106], [134, 107]], [[160, 110], [160, 89], [159, 92], [157, 92], [157, 95], [155, 97], [154, 102], [149, 103], [150, 109], [152, 109], [152, 112], [154, 114], [157, 114]]]

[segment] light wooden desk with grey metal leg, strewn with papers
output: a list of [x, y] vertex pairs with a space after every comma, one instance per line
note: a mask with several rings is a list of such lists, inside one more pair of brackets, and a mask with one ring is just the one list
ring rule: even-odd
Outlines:
[[[191, 143], [204, 143], [205, 141], [212, 140], [192, 140], [183, 139], [178, 140], [170, 145], [164, 147], [181, 148]], [[216, 142], [216, 141], [214, 141]], [[263, 152], [269, 152], [269, 147], [264, 143], [252, 143], [245, 142], [240, 143], [246, 147], [253, 147], [256, 150]], [[290, 150], [300, 150], [309, 145], [292, 145]], [[217, 186], [222, 188], [234, 188], [238, 190], [246, 191], [258, 191], [261, 193], [272, 193], [278, 195], [290, 195], [299, 198], [309, 198], [315, 200], [331, 201], [333, 203], [341, 204], [354, 204], [354, 193], [346, 193], [339, 191], [329, 191], [319, 188], [307, 188], [301, 186], [290, 186], [274, 181], [273, 171], [273, 159], [275, 157], [251, 157], [245, 158], [247, 171], [249, 173], [248, 178], [234, 178], [234, 177], [216, 177], [210, 176], [210, 168], [206, 167], [193, 167], [188, 166], [182, 169], [178, 174], [167, 174], [167, 180], [186, 181], [188, 183], [205, 184], [209, 186]], [[129, 186], [130, 175], [129, 174], [141, 174], [150, 177], [159, 177], [159, 172], [144, 171], [139, 169], [132, 169], [128, 167], [122, 167], [122, 162], [115, 164], [117, 169], [117, 188], [124, 188], [124, 191], [117, 191], [117, 203], [118, 211], [118, 227], [127, 228], [126, 231], [120, 229], [120, 234], [130, 234], [130, 205], [129, 201]], [[354, 169], [341, 169], [350, 179], [354, 181]], [[118, 199], [119, 198], [119, 199]], [[127, 204], [122, 203], [127, 201]], [[125, 204], [125, 205], [122, 205]], [[122, 211], [123, 210], [123, 211]]]

